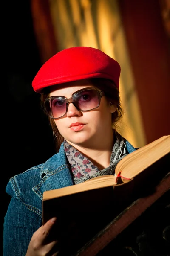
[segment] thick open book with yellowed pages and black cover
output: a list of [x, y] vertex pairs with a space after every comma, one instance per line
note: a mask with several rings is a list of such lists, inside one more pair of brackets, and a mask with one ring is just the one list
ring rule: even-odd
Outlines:
[[168, 157], [170, 135], [124, 157], [116, 166], [115, 176], [99, 176], [44, 192], [43, 224], [57, 216], [54, 233], [59, 241], [64, 241], [63, 255], [67, 255], [68, 248], [69, 253], [74, 253], [130, 203], [152, 193], [168, 172]]

